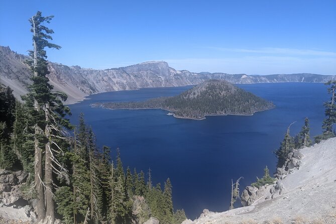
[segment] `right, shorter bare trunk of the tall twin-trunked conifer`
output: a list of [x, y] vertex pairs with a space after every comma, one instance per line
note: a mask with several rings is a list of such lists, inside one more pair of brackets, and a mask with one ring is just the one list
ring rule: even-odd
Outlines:
[[47, 102], [45, 104], [45, 115], [46, 115], [46, 129], [45, 136], [48, 139], [46, 143], [46, 162], [45, 162], [45, 195], [46, 195], [46, 217], [54, 220], [54, 198], [53, 198], [53, 168], [52, 168], [52, 152], [50, 146], [50, 131], [49, 131], [49, 113], [50, 113], [50, 105]]

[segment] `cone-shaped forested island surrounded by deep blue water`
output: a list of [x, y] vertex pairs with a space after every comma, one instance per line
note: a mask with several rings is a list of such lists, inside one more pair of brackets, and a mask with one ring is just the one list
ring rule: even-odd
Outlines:
[[161, 108], [176, 118], [202, 120], [208, 115], [253, 115], [274, 104], [225, 80], [211, 79], [177, 96], [159, 97], [139, 102], [94, 103], [109, 109]]

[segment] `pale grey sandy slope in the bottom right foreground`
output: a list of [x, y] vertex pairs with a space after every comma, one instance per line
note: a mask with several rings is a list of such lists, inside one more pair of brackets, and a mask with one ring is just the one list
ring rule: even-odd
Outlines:
[[336, 223], [336, 138], [299, 153], [300, 166], [277, 182], [280, 191], [273, 192], [272, 185], [264, 187], [266, 196], [260, 197], [260, 203], [221, 213], [205, 209], [198, 219], [183, 224]]

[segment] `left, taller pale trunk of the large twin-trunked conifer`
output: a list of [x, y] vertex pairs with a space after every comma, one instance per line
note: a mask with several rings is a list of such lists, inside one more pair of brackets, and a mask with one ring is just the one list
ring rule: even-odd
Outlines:
[[[32, 17], [33, 21], [33, 45], [34, 45], [34, 69], [37, 67], [37, 44], [34, 40], [34, 37], [36, 36], [36, 30], [35, 30], [35, 21], [34, 16]], [[34, 70], [34, 76], [37, 76], [37, 71]], [[37, 100], [34, 98], [34, 108], [36, 111], [40, 110], [39, 104]], [[42, 150], [39, 147], [39, 140], [37, 138], [38, 135], [40, 135], [42, 130], [40, 127], [38, 127], [37, 124], [35, 124], [35, 136], [34, 136], [34, 179], [35, 179], [35, 188], [37, 191], [37, 220], [42, 220], [45, 217], [45, 198], [44, 198], [44, 188], [42, 183]]]

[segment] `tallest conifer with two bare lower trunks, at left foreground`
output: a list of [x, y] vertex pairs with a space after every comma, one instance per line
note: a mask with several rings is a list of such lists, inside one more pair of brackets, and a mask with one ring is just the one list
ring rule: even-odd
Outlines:
[[[43, 17], [41, 12], [37, 12], [30, 19], [31, 32], [33, 33], [33, 47], [29, 51], [32, 60], [28, 60], [34, 75], [31, 78], [33, 83], [30, 86], [31, 92], [28, 97], [34, 99], [33, 114], [35, 118], [35, 187], [37, 191], [37, 212], [38, 220], [54, 220], [54, 199], [53, 199], [53, 172], [59, 176], [66, 177], [66, 170], [59, 163], [56, 154], [62, 155], [62, 150], [54, 139], [63, 138], [60, 134], [61, 127], [71, 128], [68, 120], [64, 119], [66, 114], [70, 114], [67, 106], [64, 106], [62, 100], [67, 96], [60, 92], [52, 91], [53, 86], [49, 84], [46, 77], [49, 74], [47, 55], [44, 50], [48, 48], [60, 49], [61, 47], [52, 44], [51, 34], [53, 30], [44, 26], [44, 23], [50, 23], [53, 16]], [[44, 181], [42, 166], [42, 145], [45, 148]]]

